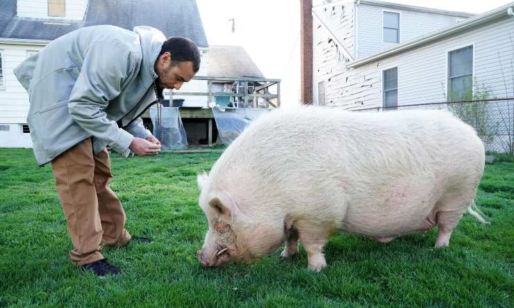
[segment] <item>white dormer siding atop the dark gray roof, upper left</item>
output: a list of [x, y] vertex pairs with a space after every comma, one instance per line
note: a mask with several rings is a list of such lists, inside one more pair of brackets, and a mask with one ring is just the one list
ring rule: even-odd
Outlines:
[[18, 0], [17, 8], [19, 17], [82, 20], [88, 8], [88, 0], [66, 0], [65, 17], [49, 17], [48, 0]]

